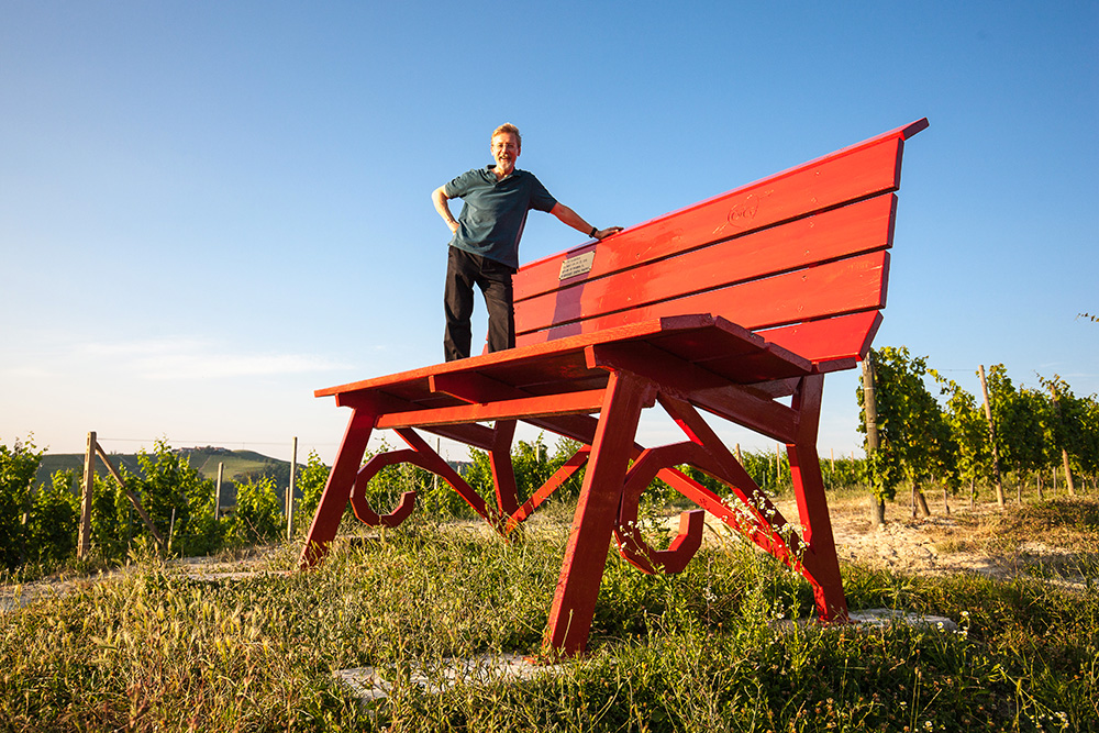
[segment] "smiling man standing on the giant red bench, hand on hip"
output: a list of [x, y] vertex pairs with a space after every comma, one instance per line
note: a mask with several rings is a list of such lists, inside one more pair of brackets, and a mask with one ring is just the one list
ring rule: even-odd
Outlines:
[[[511, 276], [519, 269], [519, 240], [523, 236], [528, 211], [547, 211], [597, 240], [622, 231], [621, 226], [597, 230], [553, 198], [534, 174], [515, 168], [522, 145], [515, 125], [500, 125], [492, 132], [496, 165], [474, 168], [431, 193], [435, 210], [454, 234], [448, 247], [444, 293], [443, 348], [447, 362], [469, 356], [475, 284], [485, 295], [488, 308], [488, 351], [499, 352], [515, 345]], [[447, 203], [451, 199], [464, 200], [457, 219], [451, 213]]]

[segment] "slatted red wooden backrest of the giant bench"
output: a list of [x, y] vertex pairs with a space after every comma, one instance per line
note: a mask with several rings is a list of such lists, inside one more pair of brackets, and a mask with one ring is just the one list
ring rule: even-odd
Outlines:
[[518, 345], [711, 313], [812, 362], [862, 358], [886, 301], [904, 141], [926, 126], [526, 265], [514, 278]]

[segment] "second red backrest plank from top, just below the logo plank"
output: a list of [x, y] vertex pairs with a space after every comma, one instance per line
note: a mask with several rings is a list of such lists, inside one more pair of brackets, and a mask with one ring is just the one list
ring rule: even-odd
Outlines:
[[520, 331], [535, 331], [882, 249], [892, 244], [896, 201], [887, 193], [609, 277], [589, 278], [517, 302], [515, 320]]

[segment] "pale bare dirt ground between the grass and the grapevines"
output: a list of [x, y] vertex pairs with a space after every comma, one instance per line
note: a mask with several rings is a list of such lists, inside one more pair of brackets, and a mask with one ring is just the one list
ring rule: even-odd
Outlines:
[[[798, 515], [792, 501], [779, 502], [779, 510], [788, 518]], [[830, 506], [832, 531], [841, 563], [884, 568], [902, 575], [953, 575], [976, 573], [996, 578], [1017, 575], [1040, 575], [1047, 582], [1067, 589], [1083, 589], [1099, 578], [1083, 577], [1064, 568], [1078, 567], [1076, 543], [1057, 533], [1019, 527], [1011, 536], [1001, 532], [996, 518], [1001, 512], [995, 503], [952, 506], [947, 514], [941, 502], [932, 506], [932, 515], [911, 517], [910, 508], [900, 502], [890, 503], [886, 523], [880, 527], [870, 524], [867, 499], [863, 497], [836, 498]], [[708, 515], [708, 536], [711, 542], [722, 542], [730, 536], [728, 527]], [[471, 525], [474, 523], [470, 523]], [[479, 526], [480, 523], [477, 523]], [[674, 532], [678, 517], [668, 520]], [[1088, 543], [1094, 544], [1094, 543]], [[1066, 546], [1067, 545], [1067, 546]], [[202, 557], [174, 560], [170, 567], [202, 579], [244, 577], [257, 573], [273, 573], [273, 555], [286, 549], [257, 551], [238, 557]], [[1095, 547], [1091, 548], [1095, 552]], [[1035, 568], [1053, 571], [1035, 573]], [[1061, 570], [1058, 570], [1058, 568]], [[0, 586], [0, 612], [26, 606], [52, 595], [65, 595], [90, 584], [126, 573], [120, 568], [90, 577], [51, 577], [25, 585]]]

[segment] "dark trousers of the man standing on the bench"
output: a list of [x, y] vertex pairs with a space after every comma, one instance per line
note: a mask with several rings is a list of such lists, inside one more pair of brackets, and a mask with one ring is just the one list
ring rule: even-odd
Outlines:
[[449, 247], [449, 251], [446, 289], [443, 295], [446, 310], [443, 351], [446, 360], [469, 356], [474, 285], [485, 293], [485, 306], [488, 308], [488, 351], [512, 348], [515, 345], [515, 312], [512, 306], [511, 276], [515, 270], [503, 263], [465, 249]]

